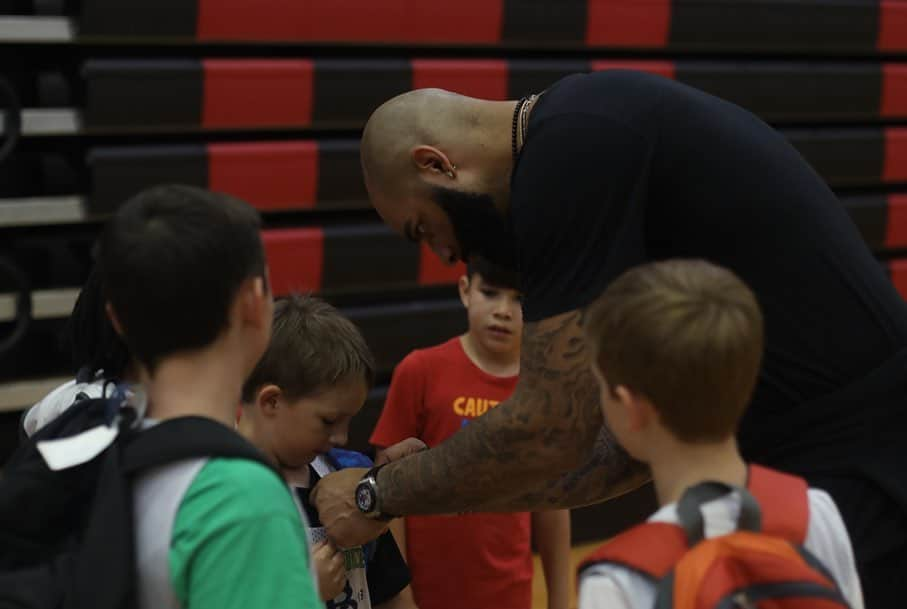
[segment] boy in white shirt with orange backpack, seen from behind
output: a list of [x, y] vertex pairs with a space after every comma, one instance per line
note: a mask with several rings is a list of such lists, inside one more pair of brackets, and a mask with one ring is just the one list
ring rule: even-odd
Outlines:
[[[796, 480], [808, 503], [797, 543], [828, 569], [852, 609], [863, 607], [850, 540], [831, 497], [807, 491], [800, 479], [748, 466], [740, 456], [735, 434], [763, 349], [762, 314], [740, 279], [701, 260], [636, 267], [590, 307], [585, 332], [607, 425], [630, 455], [652, 469], [661, 508], [650, 523], [682, 522], [678, 500], [703, 482], [747, 488], [761, 503], [758, 486], [768, 488], [769, 495], [780, 494], [782, 486]], [[734, 532], [745, 501], [741, 491], [732, 490], [702, 503], [705, 537]], [[796, 511], [793, 502], [760, 507], [766, 529], [778, 520], [769, 516], [769, 507]], [[645, 562], [646, 555], [668, 545], [672, 528], [659, 529], [665, 534], [662, 543], [650, 538], [649, 547], [637, 544], [631, 552]], [[784, 535], [766, 532], [793, 541], [787, 529]], [[580, 609], [655, 605], [657, 581], [644, 569], [628, 568], [630, 561], [613, 560], [613, 549], [621, 543], [626, 548], [627, 539], [602, 546], [584, 568]]]

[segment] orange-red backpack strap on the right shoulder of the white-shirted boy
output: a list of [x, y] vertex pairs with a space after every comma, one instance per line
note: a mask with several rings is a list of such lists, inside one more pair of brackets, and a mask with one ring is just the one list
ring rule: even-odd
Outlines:
[[759, 503], [762, 530], [802, 546], [809, 528], [809, 486], [806, 480], [760, 465], [750, 465], [746, 488]]

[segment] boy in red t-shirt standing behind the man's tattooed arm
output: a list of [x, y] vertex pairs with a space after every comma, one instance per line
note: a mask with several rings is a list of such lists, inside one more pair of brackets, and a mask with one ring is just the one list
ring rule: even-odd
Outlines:
[[[394, 371], [371, 442], [440, 444], [513, 392], [523, 315], [518, 278], [486, 261], [460, 278], [466, 334], [410, 353]], [[469, 467], [469, 463], [463, 463]], [[407, 516], [391, 528], [406, 552], [421, 609], [529, 609], [535, 536], [549, 609], [570, 602], [570, 513]]]

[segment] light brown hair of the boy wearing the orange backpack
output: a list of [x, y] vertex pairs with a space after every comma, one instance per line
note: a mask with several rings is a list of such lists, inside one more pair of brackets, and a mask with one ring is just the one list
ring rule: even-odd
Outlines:
[[732, 272], [704, 260], [636, 267], [590, 307], [586, 336], [602, 376], [648, 398], [678, 439], [736, 432], [762, 358], [762, 314]]

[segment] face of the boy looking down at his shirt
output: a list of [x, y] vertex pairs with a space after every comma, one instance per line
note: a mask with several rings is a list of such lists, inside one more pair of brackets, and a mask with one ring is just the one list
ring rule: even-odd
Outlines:
[[280, 467], [300, 470], [318, 455], [344, 446], [350, 421], [366, 396], [365, 380], [357, 377], [298, 400], [278, 398], [269, 427], [271, 452]]

